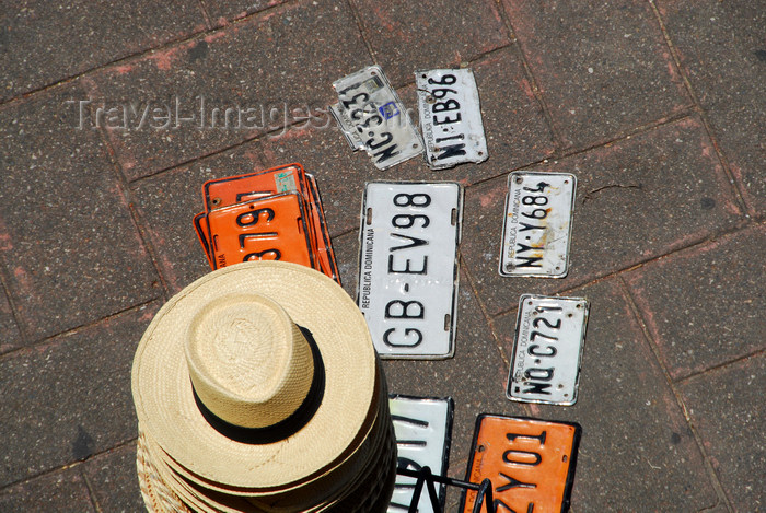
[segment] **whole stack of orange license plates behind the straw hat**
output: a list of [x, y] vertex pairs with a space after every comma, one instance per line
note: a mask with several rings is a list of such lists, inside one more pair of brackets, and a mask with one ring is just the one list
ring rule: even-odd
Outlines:
[[213, 179], [194, 228], [210, 267], [283, 260], [340, 283], [316, 180], [300, 164]]

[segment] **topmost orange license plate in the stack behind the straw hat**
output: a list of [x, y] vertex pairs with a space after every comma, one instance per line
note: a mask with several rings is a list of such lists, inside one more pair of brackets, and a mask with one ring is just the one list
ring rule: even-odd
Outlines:
[[283, 193], [208, 214], [216, 269], [248, 260], [286, 260], [314, 267], [301, 196]]

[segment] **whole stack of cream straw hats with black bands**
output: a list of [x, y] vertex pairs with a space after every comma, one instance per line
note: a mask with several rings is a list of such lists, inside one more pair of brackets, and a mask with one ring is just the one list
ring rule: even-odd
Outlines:
[[383, 512], [396, 474], [385, 378], [356, 304], [307, 267], [197, 280], [136, 352], [150, 512]]

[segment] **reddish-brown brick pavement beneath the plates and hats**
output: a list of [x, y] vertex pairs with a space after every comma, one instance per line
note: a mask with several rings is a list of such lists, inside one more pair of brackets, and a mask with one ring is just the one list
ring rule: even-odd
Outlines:
[[[583, 427], [573, 512], [766, 510], [763, 0], [1, 11], [0, 511], [141, 509], [130, 363], [162, 302], [208, 271], [199, 186], [292, 161], [318, 179], [350, 293], [365, 180], [466, 187], [455, 358], [385, 363], [392, 392], [455, 398], [450, 475], [465, 473], [476, 415], [527, 415]], [[333, 80], [372, 62], [413, 108], [411, 71], [469, 65], [490, 159], [381, 173], [326, 118], [195, 125], [199, 97], [321, 108]], [[129, 129], [100, 114], [124, 104]], [[197, 119], [177, 121], [176, 104]], [[564, 280], [497, 273], [519, 168], [578, 175]], [[525, 292], [591, 301], [573, 407], [504, 399]]]

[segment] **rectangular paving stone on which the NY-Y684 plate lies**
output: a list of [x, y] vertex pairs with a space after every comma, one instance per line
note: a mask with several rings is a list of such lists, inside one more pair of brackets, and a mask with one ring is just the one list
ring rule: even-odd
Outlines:
[[569, 276], [498, 273], [507, 177], [466, 193], [462, 254], [490, 314], [525, 292], [571, 289], [732, 226], [739, 210], [701, 123], [685, 118], [534, 167], [578, 178]]

